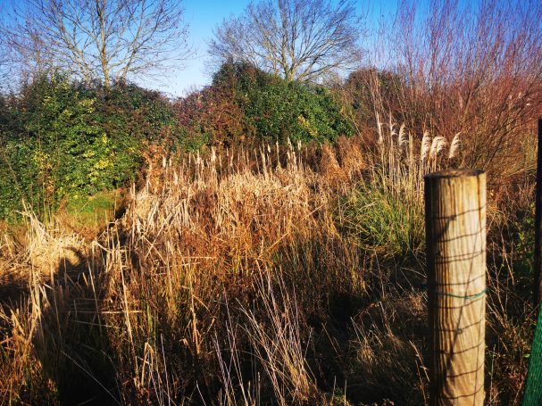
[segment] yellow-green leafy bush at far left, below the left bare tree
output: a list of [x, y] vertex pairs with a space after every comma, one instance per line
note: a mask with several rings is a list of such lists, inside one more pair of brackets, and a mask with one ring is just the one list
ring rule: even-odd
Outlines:
[[4, 101], [0, 128], [0, 217], [22, 200], [39, 211], [65, 196], [94, 195], [133, 179], [145, 142], [161, 140], [174, 124], [170, 104], [139, 87], [112, 89], [35, 79]]

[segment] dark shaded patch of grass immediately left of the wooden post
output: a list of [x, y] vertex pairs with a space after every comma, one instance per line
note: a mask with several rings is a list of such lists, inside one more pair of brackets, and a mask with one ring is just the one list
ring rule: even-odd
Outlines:
[[305, 357], [319, 389], [356, 405], [423, 404], [429, 329], [421, 262], [338, 244], [345, 242], [289, 246], [279, 260], [295, 269], [287, 285], [304, 289], [297, 297], [311, 330]]

